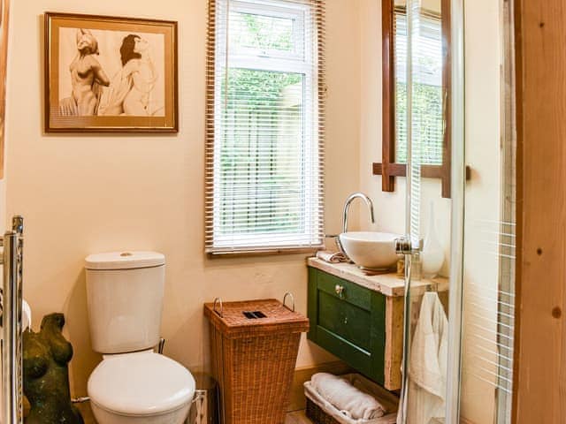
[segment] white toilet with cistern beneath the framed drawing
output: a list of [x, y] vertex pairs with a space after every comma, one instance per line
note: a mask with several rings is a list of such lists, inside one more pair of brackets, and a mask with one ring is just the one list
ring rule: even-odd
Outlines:
[[93, 350], [103, 354], [88, 378], [99, 424], [181, 424], [195, 379], [154, 352], [160, 340], [165, 259], [155, 252], [91, 254], [85, 260]]

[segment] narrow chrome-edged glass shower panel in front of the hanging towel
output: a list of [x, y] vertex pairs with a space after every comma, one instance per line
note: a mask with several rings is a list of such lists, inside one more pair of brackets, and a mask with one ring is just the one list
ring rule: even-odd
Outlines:
[[447, 131], [447, 89], [443, 86], [447, 37], [442, 25], [442, 19], [449, 16], [446, 5], [442, 0], [407, 0], [404, 8], [407, 266], [398, 423], [445, 422], [447, 401], [451, 400], [447, 399], [451, 202], [442, 198], [440, 179], [423, 178], [422, 172], [424, 166], [442, 163], [439, 155], [445, 154], [438, 140]]

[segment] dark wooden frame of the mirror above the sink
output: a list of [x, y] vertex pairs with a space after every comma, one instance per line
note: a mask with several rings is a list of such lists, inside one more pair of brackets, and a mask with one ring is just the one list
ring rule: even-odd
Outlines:
[[[450, 142], [451, 100], [451, 58], [450, 58], [450, 0], [440, 0], [442, 10], [442, 97], [444, 104], [444, 140], [441, 165], [423, 165], [424, 178], [440, 178], [442, 197], [449, 198], [451, 190], [450, 175], [452, 154]], [[383, 33], [383, 142], [382, 163], [373, 163], [373, 175], [381, 175], [382, 191], [395, 191], [395, 177], [407, 176], [407, 164], [395, 163], [395, 67], [394, 67], [394, 0], [382, 0]]]

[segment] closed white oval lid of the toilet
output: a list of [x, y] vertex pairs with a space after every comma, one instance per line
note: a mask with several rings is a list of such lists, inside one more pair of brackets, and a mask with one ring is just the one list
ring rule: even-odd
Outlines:
[[178, 362], [154, 352], [104, 359], [88, 379], [88, 396], [97, 405], [125, 415], [172, 411], [195, 394], [195, 379]]

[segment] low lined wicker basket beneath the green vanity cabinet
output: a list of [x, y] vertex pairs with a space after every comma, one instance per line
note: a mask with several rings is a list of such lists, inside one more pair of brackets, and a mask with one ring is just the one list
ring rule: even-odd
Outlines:
[[340, 412], [321, 397], [310, 382], [304, 383], [304, 394], [307, 398], [307, 417], [315, 424], [395, 424], [399, 398], [379, 387], [375, 382], [359, 374], [342, 375], [350, 384], [376, 398], [386, 409], [386, 415], [375, 420], [354, 420]]

